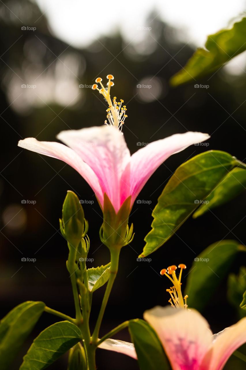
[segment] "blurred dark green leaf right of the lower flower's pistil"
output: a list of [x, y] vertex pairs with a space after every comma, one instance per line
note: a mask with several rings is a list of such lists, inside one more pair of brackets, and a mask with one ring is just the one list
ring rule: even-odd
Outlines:
[[228, 274], [239, 251], [246, 252], [246, 247], [236, 240], [222, 240], [213, 243], [195, 258], [188, 272], [185, 294], [188, 294], [188, 306], [202, 311]]

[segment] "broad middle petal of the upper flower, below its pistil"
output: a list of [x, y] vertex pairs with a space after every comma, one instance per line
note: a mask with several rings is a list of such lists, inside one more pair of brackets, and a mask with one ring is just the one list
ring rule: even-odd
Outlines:
[[121, 176], [130, 161], [124, 136], [115, 127], [82, 128], [62, 131], [57, 138], [74, 149], [98, 176], [102, 192], [106, 192], [116, 211], [121, 205]]

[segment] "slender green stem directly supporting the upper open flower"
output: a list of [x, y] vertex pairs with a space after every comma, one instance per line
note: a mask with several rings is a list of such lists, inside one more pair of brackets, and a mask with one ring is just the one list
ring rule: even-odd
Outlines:
[[110, 255], [111, 255], [111, 262], [110, 262], [110, 269], [109, 269], [109, 272], [110, 272], [109, 281], [107, 282], [107, 287], [106, 287], [105, 294], [103, 297], [102, 306], [100, 308], [96, 326], [92, 334], [92, 343], [95, 343], [95, 344], [98, 341], [99, 330], [100, 330], [103, 315], [106, 309], [107, 301], [109, 300], [109, 295], [112, 290], [112, 286], [115, 281], [116, 274], [118, 272], [120, 249], [110, 250]]

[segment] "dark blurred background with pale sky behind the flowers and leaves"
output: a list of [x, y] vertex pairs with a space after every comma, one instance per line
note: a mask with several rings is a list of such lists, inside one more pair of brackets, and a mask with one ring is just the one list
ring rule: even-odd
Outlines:
[[[137, 262], [150, 231], [151, 210], [175, 169], [200, 152], [219, 149], [245, 160], [246, 56], [194, 84], [170, 88], [168, 80], [203, 46], [206, 36], [235, 21], [245, 1], [79, 0], [0, 1], [0, 316], [25, 300], [42, 300], [74, 316], [65, 261], [68, 248], [59, 232], [66, 191], [84, 201], [91, 242], [88, 267], [105, 264], [109, 252], [99, 239], [102, 213], [89, 185], [63, 162], [18, 148], [19, 139], [55, 141], [64, 129], [102, 125], [106, 104], [91, 90], [96, 77], [115, 76], [112, 94], [124, 99], [123, 131], [131, 153], [146, 143], [185, 131], [208, 132], [208, 146], [192, 146], [169, 158], [148, 181], [130, 222], [136, 233], [124, 247], [120, 270], [106, 309], [101, 335], [155, 305], [166, 305], [169, 283], [159, 275], [168, 265], [185, 263], [223, 238], [245, 243], [245, 202], [230, 203], [188, 221], [150, 256]], [[232, 18], [233, 17], [233, 18]], [[143, 202], [144, 201], [144, 202]], [[35, 258], [24, 262], [22, 258]], [[233, 266], [238, 272], [239, 259]], [[185, 274], [184, 274], [185, 275]], [[218, 277], [219, 278], [219, 277]], [[185, 283], [185, 279], [183, 281]], [[92, 327], [104, 289], [93, 296]], [[204, 312], [213, 332], [238, 320], [226, 300], [226, 280]], [[37, 334], [55, 317], [43, 314], [11, 369]], [[130, 340], [127, 331], [116, 339]], [[138, 369], [121, 354], [98, 350], [98, 369]], [[230, 359], [225, 369], [243, 369]], [[50, 369], [66, 369], [66, 356]]]

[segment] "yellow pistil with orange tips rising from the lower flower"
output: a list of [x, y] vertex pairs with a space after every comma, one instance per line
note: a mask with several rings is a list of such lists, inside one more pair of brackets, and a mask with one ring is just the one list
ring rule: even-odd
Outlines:
[[181, 292], [181, 285], [182, 285], [181, 276], [182, 276], [182, 271], [186, 269], [186, 266], [183, 263], [180, 263], [180, 265], [178, 265], [178, 269], [180, 269], [180, 273], [178, 276], [176, 273], [177, 266], [175, 265], [168, 266], [167, 269], [162, 269], [160, 274], [167, 276], [168, 279], [170, 279], [172, 282], [172, 286], [170, 287], [170, 289], [167, 289], [167, 292], [171, 296], [171, 298], [168, 300], [171, 306], [176, 307], [176, 308], [187, 309], [188, 295], [185, 295], [183, 297], [182, 292]]

